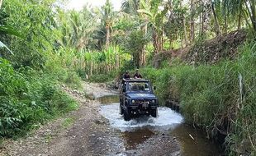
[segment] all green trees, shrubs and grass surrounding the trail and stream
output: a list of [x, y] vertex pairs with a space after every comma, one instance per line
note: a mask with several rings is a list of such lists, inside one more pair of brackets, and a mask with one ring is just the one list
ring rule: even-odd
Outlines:
[[228, 154], [256, 153], [254, 0], [65, 5], [0, 0], [1, 138], [77, 108], [62, 84], [80, 89], [80, 80], [120, 80], [141, 68], [162, 103], [179, 102], [186, 121], [212, 137], [226, 134]]

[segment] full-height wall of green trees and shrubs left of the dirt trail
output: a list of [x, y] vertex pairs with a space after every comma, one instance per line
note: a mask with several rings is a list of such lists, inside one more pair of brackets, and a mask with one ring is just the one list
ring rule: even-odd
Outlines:
[[[24, 5], [26, 3], [26, 5]], [[1, 1], [0, 136], [26, 135], [47, 120], [78, 108], [60, 83], [79, 87], [55, 50], [53, 1]]]

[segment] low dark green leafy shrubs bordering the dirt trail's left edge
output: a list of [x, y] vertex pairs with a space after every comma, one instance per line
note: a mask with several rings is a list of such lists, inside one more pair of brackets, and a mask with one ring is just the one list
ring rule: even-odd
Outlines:
[[20, 69], [0, 58], [0, 136], [26, 133], [39, 123], [76, 108], [54, 76]]

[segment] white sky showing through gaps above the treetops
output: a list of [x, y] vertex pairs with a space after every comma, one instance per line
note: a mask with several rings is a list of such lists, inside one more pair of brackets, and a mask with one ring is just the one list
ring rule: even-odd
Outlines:
[[[115, 11], [119, 11], [122, 0], [110, 0], [114, 6]], [[81, 10], [85, 4], [92, 7], [102, 7], [106, 0], [69, 0], [68, 7], [70, 9]]]

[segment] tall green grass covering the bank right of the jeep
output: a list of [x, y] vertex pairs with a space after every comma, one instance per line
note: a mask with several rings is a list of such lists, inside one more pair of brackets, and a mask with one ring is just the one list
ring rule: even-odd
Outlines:
[[160, 101], [177, 100], [187, 122], [208, 135], [227, 135], [230, 155], [256, 154], [256, 43], [239, 48], [239, 57], [215, 65], [177, 65], [142, 73], [157, 86]]

